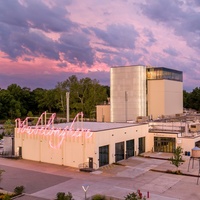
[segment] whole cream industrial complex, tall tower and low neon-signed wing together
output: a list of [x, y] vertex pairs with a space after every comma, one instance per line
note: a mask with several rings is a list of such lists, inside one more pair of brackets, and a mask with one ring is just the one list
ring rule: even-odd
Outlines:
[[189, 152], [200, 143], [200, 116], [183, 113], [182, 72], [146, 66], [112, 67], [109, 105], [97, 122], [54, 124], [44, 112], [37, 124], [16, 120], [15, 154], [23, 159], [98, 169], [144, 152]]

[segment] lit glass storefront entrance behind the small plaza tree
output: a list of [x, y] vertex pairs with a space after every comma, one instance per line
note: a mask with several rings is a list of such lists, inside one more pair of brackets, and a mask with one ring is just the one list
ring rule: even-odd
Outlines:
[[154, 137], [154, 152], [173, 153], [175, 148], [175, 138]]

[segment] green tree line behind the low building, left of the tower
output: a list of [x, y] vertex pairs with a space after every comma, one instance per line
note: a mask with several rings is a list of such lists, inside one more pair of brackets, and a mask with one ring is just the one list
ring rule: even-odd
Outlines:
[[78, 79], [70, 76], [58, 82], [54, 89], [21, 88], [11, 84], [0, 89], [0, 119], [16, 119], [26, 116], [38, 116], [44, 111], [56, 112], [66, 117], [66, 93], [69, 92], [70, 117], [83, 111], [84, 117], [95, 118], [96, 105], [103, 104], [110, 96], [109, 86], [100, 85], [90, 78]]

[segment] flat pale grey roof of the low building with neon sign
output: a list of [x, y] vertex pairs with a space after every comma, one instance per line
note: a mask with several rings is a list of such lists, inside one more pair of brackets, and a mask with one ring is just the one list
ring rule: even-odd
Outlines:
[[[80, 129], [90, 129], [90, 131], [97, 132], [97, 131], [104, 131], [104, 130], [110, 130], [110, 129], [118, 129], [118, 128], [126, 128], [126, 127], [132, 127], [132, 126], [139, 126], [142, 124], [136, 124], [136, 123], [111, 123], [111, 122], [75, 122], [73, 124], [73, 127], [75, 130], [77, 128]], [[61, 128], [64, 129], [66, 127], [70, 128], [72, 126], [71, 123], [60, 123], [60, 124], [54, 124], [54, 128]]]

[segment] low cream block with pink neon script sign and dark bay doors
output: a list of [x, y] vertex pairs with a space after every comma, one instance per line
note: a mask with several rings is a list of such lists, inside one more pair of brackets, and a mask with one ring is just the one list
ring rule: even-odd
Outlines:
[[30, 118], [19, 120], [16, 154], [27, 160], [97, 169], [150, 150], [147, 123], [82, 122], [77, 117], [72, 123], [54, 124], [52, 118], [35, 126], [28, 125]]

